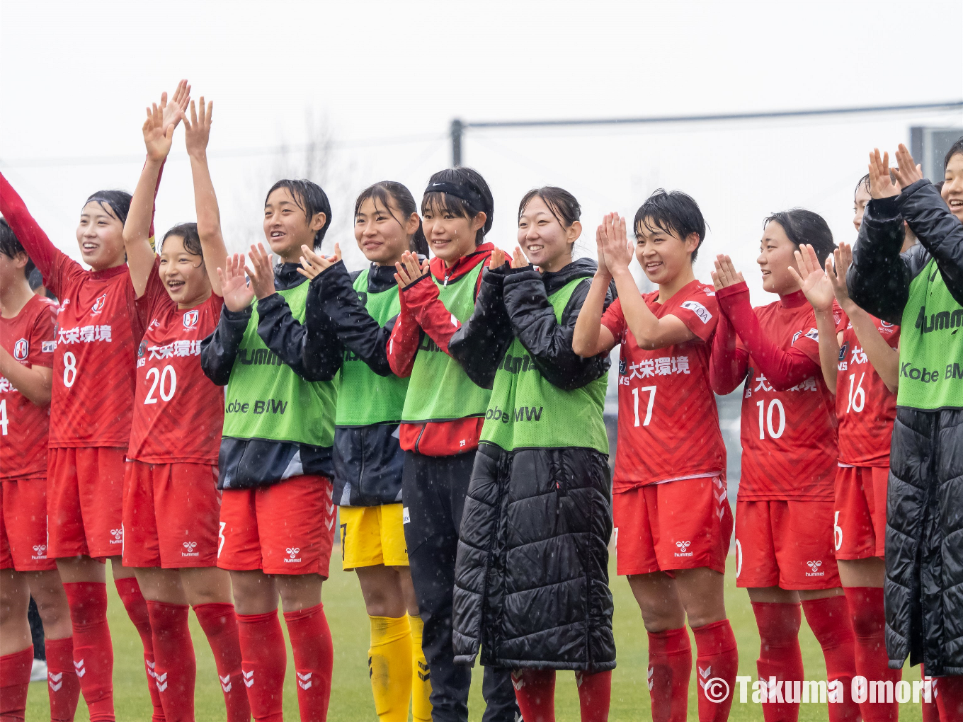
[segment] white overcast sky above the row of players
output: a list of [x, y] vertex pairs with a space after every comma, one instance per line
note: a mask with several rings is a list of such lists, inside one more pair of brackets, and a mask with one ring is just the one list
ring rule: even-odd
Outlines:
[[[963, 3], [176, 2], [0, 0], [0, 168], [54, 243], [78, 256], [77, 216], [101, 188], [132, 191], [143, 107], [190, 79], [215, 101], [211, 166], [228, 245], [263, 240], [271, 147], [335, 142], [325, 249], [354, 246], [351, 203], [394, 179], [420, 199], [465, 120], [675, 116], [888, 105], [963, 97]], [[307, 118], [313, 117], [313, 122]], [[475, 130], [464, 162], [496, 200], [489, 240], [515, 243], [518, 199], [560, 185], [583, 204], [588, 254], [604, 212], [655, 188], [699, 202], [696, 265], [754, 267], [762, 219], [804, 206], [851, 241], [852, 188], [874, 145], [959, 112], [579, 130]], [[194, 218], [178, 131], [157, 225]], [[359, 254], [349, 256], [359, 265]]]

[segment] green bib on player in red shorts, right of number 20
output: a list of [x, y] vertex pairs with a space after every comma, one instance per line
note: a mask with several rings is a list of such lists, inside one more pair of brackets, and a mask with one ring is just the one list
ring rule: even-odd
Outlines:
[[[304, 322], [308, 283], [278, 291]], [[305, 381], [257, 335], [257, 302], [231, 367], [224, 406], [224, 436], [330, 447], [334, 443], [334, 381]]]

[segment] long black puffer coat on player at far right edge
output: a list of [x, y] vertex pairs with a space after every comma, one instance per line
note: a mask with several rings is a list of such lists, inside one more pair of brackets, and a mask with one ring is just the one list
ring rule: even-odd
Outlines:
[[[903, 219], [920, 244], [900, 256]], [[931, 258], [963, 304], [963, 223], [922, 180], [896, 198], [870, 201], [846, 276], [849, 296], [899, 323], [910, 281]], [[919, 331], [904, 325], [901, 333]], [[948, 361], [963, 364], [963, 333], [953, 331], [947, 343]], [[928, 675], [963, 675], [963, 409], [897, 408], [884, 594], [890, 667], [899, 669], [908, 656]]]

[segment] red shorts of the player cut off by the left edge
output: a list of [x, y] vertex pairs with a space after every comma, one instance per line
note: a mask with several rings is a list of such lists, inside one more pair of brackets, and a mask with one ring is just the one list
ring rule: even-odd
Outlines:
[[47, 558], [47, 480], [43, 477], [0, 482], [0, 569], [49, 572]]

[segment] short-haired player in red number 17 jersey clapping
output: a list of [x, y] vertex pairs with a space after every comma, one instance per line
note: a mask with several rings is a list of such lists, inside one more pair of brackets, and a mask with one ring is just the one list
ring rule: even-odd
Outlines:
[[[638, 208], [633, 228], [638, 264], [659, 291], [638, 293], [625, 219], [610, 214], [598, 229], [599, 268], [572, 348], [587, 357], [620, 345], [612, 517], [617, 572], [628, 577], [648, 632], [653, 717], [687, 718], [688, 618], [699, 720], [725, 720], [739, 656], [723, 602], [732, 509], [709, 385], [719, 314], [714, 291], [692, 272], [706, 223], [689, 195], [660, 189]], [[603, 314], [612, 280], [618, 298]]]

